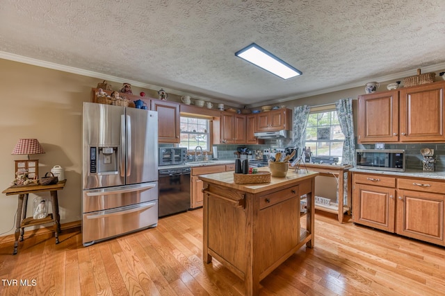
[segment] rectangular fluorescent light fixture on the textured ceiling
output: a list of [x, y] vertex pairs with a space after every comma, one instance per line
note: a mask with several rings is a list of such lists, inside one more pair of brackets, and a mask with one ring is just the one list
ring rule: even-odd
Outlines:
[[236, 51], [235, 55], [283, 79], [289, 79], [302, 74], [298, 69], [254, 43], [241, 49], [241, 51]]

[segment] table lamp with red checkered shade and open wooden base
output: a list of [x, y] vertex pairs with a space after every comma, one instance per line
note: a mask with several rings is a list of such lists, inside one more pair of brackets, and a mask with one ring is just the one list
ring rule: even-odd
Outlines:
[[[19, 139], [15, 144], [12, 155], [28, 155], [26, 160], [15, 161], [15, 173], [28, 172], [29, 179], [38, 179], [39, 176], [39, 161], [38, 159], [29, 159], [30, 154], [42, 154], [44, 150], [38, 139]], [[15, 176], [14, 176], [15, 177]]]

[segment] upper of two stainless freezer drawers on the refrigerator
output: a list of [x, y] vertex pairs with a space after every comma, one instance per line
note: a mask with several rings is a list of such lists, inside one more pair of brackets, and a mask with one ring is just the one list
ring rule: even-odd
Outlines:
[[158, 182], [83, 191], [82, 212], [102, 211], [158, 199]]

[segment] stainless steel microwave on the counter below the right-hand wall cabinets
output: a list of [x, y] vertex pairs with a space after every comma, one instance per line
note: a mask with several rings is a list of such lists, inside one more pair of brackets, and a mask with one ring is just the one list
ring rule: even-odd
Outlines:
[[405, 171], [405, 150], [357, 149], [357, 168], [378, 171]]

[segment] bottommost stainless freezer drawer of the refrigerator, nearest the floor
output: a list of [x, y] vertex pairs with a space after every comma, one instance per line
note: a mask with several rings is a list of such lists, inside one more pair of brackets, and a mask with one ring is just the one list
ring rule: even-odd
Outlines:
[[158, 201], [83, 214], [82, 242], [84, 246], [158, 223]]

